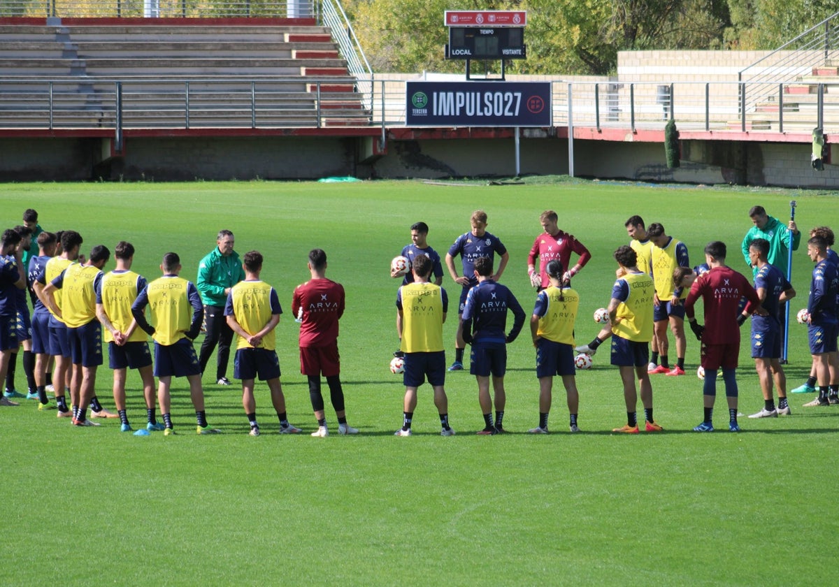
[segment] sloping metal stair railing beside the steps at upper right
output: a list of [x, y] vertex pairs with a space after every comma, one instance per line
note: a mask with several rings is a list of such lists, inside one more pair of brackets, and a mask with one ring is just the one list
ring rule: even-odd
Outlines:
[[[740, 108], [754, 112], [767, 102], [774, 101], [778, 83], [805, 84], [808, 75], [831, 60], [839, 62], [839, 13], [816, 24], [775, 49], [768, 55], [737, 73], [741, 86]], [[745, 130], [745, 127], [743, 127]]]

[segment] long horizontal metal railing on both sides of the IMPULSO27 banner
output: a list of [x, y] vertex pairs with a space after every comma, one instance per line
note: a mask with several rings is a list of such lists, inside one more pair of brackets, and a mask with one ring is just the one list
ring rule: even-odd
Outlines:
[[[340, 91], [346, 78], [5, 78], [0, 84], [0, 128], [277, 128], [404, 126], [404, 81], [370, 81], [371, 91]], [[560, 82], [552, 84], [555, 127], [629, 132], [662, 129], [673, 117], [680, 130], [839, 132], [839, 96], [815, 86], [790, 95], [774, 83], [780, 107], [743, 113], [743, 82]], [[352, 84], [350, 84], [352, 86]], [[820, 91], [821, 87], [821, 91]], [[664, 90], [666, 88], [666, 91]], [[795, 101], [793, 101], [795, 98]], [[371, 105], [370, 108], [367, 105]]]

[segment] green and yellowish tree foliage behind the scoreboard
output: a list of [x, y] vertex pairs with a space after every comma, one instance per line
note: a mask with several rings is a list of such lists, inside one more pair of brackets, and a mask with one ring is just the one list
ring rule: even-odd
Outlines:
[[[607, 75], [618, 51], [774, 49], [836, 11], [836, 0], [344, 0], [377, 71], [459, 72], [446, 10], [527, 10], [527, 60], [508, 71]], [[492, 64], [497, 68], [498, 64]]]

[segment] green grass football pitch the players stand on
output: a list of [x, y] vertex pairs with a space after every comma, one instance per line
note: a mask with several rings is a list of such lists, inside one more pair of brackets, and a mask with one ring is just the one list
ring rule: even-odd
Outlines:
[[[204, 391], [208, 421], [224, 432], [217, 436], [194, 433], [185, 379], [173, 382], [173, 437], [122, 434], [118, 419], [78, 429], [25, 399], [0, 408], [0, 584], [830, 584], [830, 548], [839, 536], [831, 497], [839, 481], [839, 407], [802, 408], [813, 396], [791, 395], [790, 417], [746, 418], [763, 407], [748, 325], [737, 370], [740, 434], [727, 432], [722, 381], [717, 431], [691, 431], [702, 419], [702, 383], [699, 343], [689, 329], [687, 375], [652, 376], [663, 433], [612, 434], [626, 411], [603, 345], [591, 370], [576, 377], [582, 434], [568, 432], [558, 380], [552, 434], [527, 434], [538, 424], [539, 386], [525, 325], [508, 348], [504, 424], [512, 434], [475, 434], [483, 426], [477, 385], [460, 371], [446, 377], [455, 437], [440, 437], [427, 384], [414, 436], [393, 437], [404, 387], [388, 370], [398, 345], [399, 285], [388, 264], [410, 242], [415, 221], [429, 224], [430, 246], [442, 257], [469, 230], [472, 210], [486, 210], [487, 231], [510, 252], [502, 282], [529, 314], [535, 294], [527, 253], [541, 230], [539, 214], [557, 210], [560, 229], [593, 256], [574, 278], [578, 344], [597, 333], [591, 314], [610, 298], [612, 252], [628, 242], [629, 216], [661, 222], [685, 242], [691, 265], [704, 262], [707, 242], [722, 240], [728, 264], [748, 275], [740, 243], [752, 226], [749, 208], [763, 205], [788, 221], [789, 200], [796, 200], [805, 235], [793, 261], [793, 316], [805, 307], [810, 283], [807, 231], [839, 228], [839, 200], [828, 193], [531, 181], [0, 184], [3, 228], [34, 208], [45, 230], [79, 231], [86, 254], [128, 240], [137, 249], [133, 269], [149, 280], [169, 251], [180, 254], [182, 276], [195, 280], [220, 229], [235, 233], [240, 254], [262, 252], [262, 277], [286, 311], [277, 351], [289, 420], [304, 429], [276, 434], [268, 389], [258, 383], [263, 434], [249, 437], [239, 382], [216, 386], [213, 369]], [[314, 247], [328, 255], [327, 277], [347, 289], [341, 379], [357, 436], [336, 434], [328, 393], [332, 435], [309, 434], [316, 423], [290, 304], [294, 287], [309, 278], [306, 255]], [[443, 287], [451, 302], [451, 363], [460, 286], [446, 272]], [[790, 332], [788, 388], [810, 369], [805, 328], [794, 323]], [[675, 361], [672, 335], [670, 345]], [[232, 379], [232, 357], [227, 375]], [[18, 361], [18, 389], [25, 381]], [[96, 390], [109, 409], [111, 384], [106, 358]], [[145, 423], [133, 371], [128, 415], [135, 429]]]

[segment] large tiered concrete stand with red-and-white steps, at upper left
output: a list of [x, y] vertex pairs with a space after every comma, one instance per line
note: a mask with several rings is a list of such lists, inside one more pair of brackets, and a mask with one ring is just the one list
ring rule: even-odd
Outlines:
[[367, 124], [328, 28], [253, 24], [0, 23], [0, 127]]

